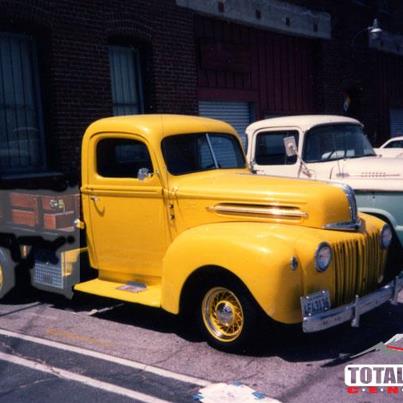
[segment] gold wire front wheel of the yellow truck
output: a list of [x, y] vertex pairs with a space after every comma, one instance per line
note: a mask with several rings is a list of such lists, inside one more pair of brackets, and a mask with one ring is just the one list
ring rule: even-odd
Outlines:
[[203, 322], [214, 338], [231, 342], [239, 337], [245, 319], [242, 305], [232, 291], [212, 288], [204, 296], [201, 309]]

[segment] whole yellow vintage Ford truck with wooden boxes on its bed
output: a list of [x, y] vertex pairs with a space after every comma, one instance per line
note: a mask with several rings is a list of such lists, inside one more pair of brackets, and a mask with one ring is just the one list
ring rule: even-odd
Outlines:
[[[306, 332], [358, 326], [360, 315], [396, 302], [403, 287], [403, 275], [383, 282], [389, 225], [358, 214], [349, 186], [254, 175], [224, 122], [99, 120], [83, 137], [81, 171], [75, 226], [87, 247], [71, 228], [59, 231], [66, 242], [53, 252], [55, 240], [10, 238], [0, 256], [1, 296], [14, 285], [17, 243], [18, 267], [28, 259], [38, 288], [190, 313], [209, 343], [234, 350], [258, 330], [259, 317], [302, 322]], [[64, 206], [63, 197], [45, 206]], [[86, 249], [96, 276], [82, 281]]]

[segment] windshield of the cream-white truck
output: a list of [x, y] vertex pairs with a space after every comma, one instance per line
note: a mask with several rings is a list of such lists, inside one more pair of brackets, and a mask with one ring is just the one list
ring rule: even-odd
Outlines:
[[302, 158], [323, 162], [376, 155], [361, 126], [335, 124], [314, 127], [305, 137]]

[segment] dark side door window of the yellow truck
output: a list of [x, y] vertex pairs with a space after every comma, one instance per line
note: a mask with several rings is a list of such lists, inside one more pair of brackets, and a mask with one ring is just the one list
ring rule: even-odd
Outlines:
[[139, 170], [153, 172], [147, 146], [141, 141], [103, 139], [96, 151], [97, 172], [105, 178], [137, 178]]

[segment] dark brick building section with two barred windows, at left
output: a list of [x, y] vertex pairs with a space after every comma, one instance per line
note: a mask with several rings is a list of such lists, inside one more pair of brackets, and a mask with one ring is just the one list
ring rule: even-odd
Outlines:
[[77, 173], [81, 136], [95, 119], [197, 113], [192, 12], [174, 1], [10, 0], [0, 8], [3, 178]]

